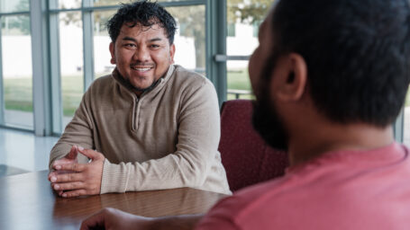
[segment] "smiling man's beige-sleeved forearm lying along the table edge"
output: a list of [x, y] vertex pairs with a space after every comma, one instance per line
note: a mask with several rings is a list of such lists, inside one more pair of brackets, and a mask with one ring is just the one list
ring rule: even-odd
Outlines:
[[101, 192], [198, 187], [205, 181], [207, 165], [206, 160], [188, 160], [175, 154], [144, 163], [105, 161]]

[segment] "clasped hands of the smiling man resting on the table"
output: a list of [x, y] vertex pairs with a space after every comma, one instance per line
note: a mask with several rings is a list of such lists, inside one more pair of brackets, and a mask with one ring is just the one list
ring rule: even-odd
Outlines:
[[[78, 154], [86, 155], [90, 162], [79, 164]], [[99, 194], [104, 161], [105, 156], [101, 153], [72, 146], [68, 155], [52, 164], [54, 171], [49, 173], [51, 188], [63, 198]]]

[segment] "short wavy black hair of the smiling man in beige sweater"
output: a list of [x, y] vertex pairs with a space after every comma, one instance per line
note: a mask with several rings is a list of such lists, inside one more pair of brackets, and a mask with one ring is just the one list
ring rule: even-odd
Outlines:
[[118, 38], [123, 23], [131, 22], [130, 27], [137, 24], [150, 27], [159, 24], [167, 33], [169, 44], [174, 43], [177, 22], [164, 7], [150, 1], [138, 1], [132, 4], [121, 4], [117, 13], [107, 22], [108, 33], [113, 42]]

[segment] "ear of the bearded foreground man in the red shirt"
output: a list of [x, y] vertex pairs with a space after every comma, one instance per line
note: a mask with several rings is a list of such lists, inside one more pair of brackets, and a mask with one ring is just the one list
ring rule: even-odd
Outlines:
[[283, 102], [299, 101], [305, 93], [307, 66], [305, 59], [291, 53], [278, 60], [278, 67], [272, 76], [270, 90]]

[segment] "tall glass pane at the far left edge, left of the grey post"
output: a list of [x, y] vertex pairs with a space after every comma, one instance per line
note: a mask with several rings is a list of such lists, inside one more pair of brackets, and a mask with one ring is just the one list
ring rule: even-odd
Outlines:
[[32, 128], [32, 36], [29, 15], [2, 17], [5, 123]]

